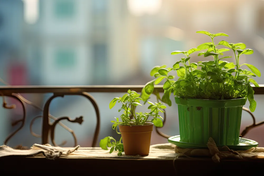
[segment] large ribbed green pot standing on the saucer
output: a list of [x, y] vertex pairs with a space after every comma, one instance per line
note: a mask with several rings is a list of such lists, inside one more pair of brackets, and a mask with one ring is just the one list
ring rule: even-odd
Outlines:
[[238, 145], [242, 107], [246, 98], [207, 100], [175, 97], [182, 142], [206, 145]]

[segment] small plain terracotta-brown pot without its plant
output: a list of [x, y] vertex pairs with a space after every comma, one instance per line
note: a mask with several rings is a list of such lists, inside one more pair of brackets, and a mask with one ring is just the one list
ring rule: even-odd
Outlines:
[[153, 123], [119, 125], [125, 155], [148, 155]]

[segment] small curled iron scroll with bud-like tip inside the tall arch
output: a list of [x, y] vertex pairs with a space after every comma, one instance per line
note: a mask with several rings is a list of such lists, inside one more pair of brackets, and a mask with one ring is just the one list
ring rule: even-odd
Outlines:
[[[55, 127], [56, 127], [57, 123], [59, 123], [61, 120], [68, 120], [69, 122], [79, 123], [81, 125], [83, 122], [82, 118], [83, 118], [83, 116], [80, 116], [80, 117], [76, 117], [74, 120], [72, 120], [72, 119], [70, 119], [70, 117], [64, 116], [64, 117], [59, 117], [57, 120], [55, 120], [50, 127], [51, 142], [53, 143], [53, 145], [58, 146], [54, 140], [54, 132], [55, 132]], [[65, 143], [65, 142], [63, 142], [63, 143]], [[77, 146], [76, 137], [74, 137], [74, 146]]]

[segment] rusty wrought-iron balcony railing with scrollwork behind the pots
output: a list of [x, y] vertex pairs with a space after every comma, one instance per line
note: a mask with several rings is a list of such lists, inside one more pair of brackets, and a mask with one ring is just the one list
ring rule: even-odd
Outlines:
[[[91, 86], [0, 86], [0, 96], [3, 96], [3, 107], [7, 108], [7, 109], [13, 109], [16, 106], [15, 105], [8, 105], [5, 100], [4, 97], [12, 97], [17, 99], [17, 101], [19, 101], [22, 105], [22, 109], [23, 109], [23, 117], [20, 120], [17, 120], [15, 122], [12, 123], [12, 125], [17, 125], [18, 123], [21, 123], [21, 125], [18, 127], [17, 130], [15, 130], [14, 132], [12, 132], [9, 136], [7, 136], [7, 138], [4, 141], [4, 144], [7, 144], [7, 142], [18, 132], [20, 131], [26, 121], [26, 104], [29, 104], [41, 111], [43, 111], [43, 115], [41, 116], [37, 116], [35, 118], [32, 119], [31, 123], [30, 123], [30, 132], [33, 136], [35, 137], [41, 137], [42, 138], [42, 144], [47, 144], [49, 141], [49, 136], [51, 139], [51, 142], [53, 143], [54, 146], [58, 146], [55, 143], [54, 140], [54, 134], [55, 134], [55, 126], [57, 124], [59, 124], [60, 126], [62, 126], [63, 128], [65, 128], [66, 130], [68, 130], [74, 138], [74, 145], [77, 145], [77, 138], [75, 136], [75, 133], [73, 130], [69, 129], [66, 125], [64, 125], [62, 122], [60, 122], [61, 120], [68, 120], [69, 122], [72, 123], [82, 123], [82, 116], [77, 117], [75, 119], [70, 119], [67, 116], [64, 117], [59, 117], [56, 118], [54, 116], [52, 116], [51, 114], [49, 114], [49, 107], [50, 107], [50, 103], [51, 101], [56, 98], [56, 97], [64, 97], [65, 95], [76, 95], [76, 96], [83, 96], [86, 97], [93, 105], [95, 112], [96, 112], [96, 129], [95, 129], [95, 133], [93, 136], [93, 142], [92, 142], [92, 147], [96, 146], [96, 142], [98, 139], [98, 135], [99, 135], [99, 130], [100, 130], [100, 111], [99, 111], [99, 107], [96, 103], [96, 100], [89, 94], [91, 92], [105, 92], [105, 93], [114, 93], [114, 92], [127, 92], [128, 89], [131, 89], [133, 91], [136, 92], [141, 92], [143, 88], [143, 85], [91, 85]], [[158, 92], [164, 92], [162, 86], [157, 85], [155, 86], [155, 89]], [[264, 85], [260, 85], [260, 87], [253, 87], [255, 94], [264, 94]], [[23, 96], [21, 96], [20, 93], [53, 93], [53, 95], [45, 102], [44, 108], [39, 107], [38, 105], [34, 104], [33, 102], [30, 102], [29, 100], [27, 100], [26, 98], [24, 98]], [[247, 132], [251, 129], [253, 129], [256, 126], [260, 126], [262, 124], [264, 124], [264, 121], [256, 123], [255, 117], [254, 115], [245, 107], [243, 107], [243, 110], [247, 111], [253, 118], [253, 124], [249, 125], [246, 127], [246, 129], [244, 129], [241, 133], [241, 136], [244, 136], [247, 134]], [[42, 134], [41, 135], [37, 135], [34, 132], [32, 132], [31, 130], [31, 126], [34, 123], [34, 121], [36, 120], [36, 118], [42, 118]], [[50, 122], [50, 118], [54, 120], [53, 123]], [[166, 122], [166, 113], [164, 113], [164, 126]], [[164, 133], [162, 133], [160, 130], [160, 128], [156, 127], [156, 131], [159, 135], [168, 138], [169, 135], [166, 135]]]

